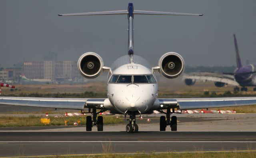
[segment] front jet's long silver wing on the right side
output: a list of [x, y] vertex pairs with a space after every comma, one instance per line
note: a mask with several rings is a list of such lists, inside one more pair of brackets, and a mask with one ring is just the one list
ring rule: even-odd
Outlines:
[[[159, 98], [161, 109], [166, 107], [180, 108], [180, 110], [221, 108], [229, 106], [256, 105], [256, 97], [229, 97], [229, 98]], [[176, 106], [174, 106], [176, 104]]]

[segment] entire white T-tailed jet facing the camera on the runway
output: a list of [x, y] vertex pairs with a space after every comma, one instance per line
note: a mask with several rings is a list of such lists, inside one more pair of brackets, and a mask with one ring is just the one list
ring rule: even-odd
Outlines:
[[[26, 97], [0, 97], [0, 104], [36, 106], [47, 108], [66, 108], [85, 110], [92, 113], [86, 116], [86, 131], [91, 131], [92, 126], [97, 126], [98, 131], [103, 131], [103, 118], [100, 112], [110, 110], [114, 114], [124, 114], [128, 117], [126, 132], [138, 132], [136, 115], [152, 114], [154, 110], [165, 114], [160, 117], [160, 131], [165, 131], [170, 126], [172, 131], [177, 130], [177, 118], [171, 116], [174, 108], [180, 110], [197, 108], [215, 108], [226, 106], [242, 106], [256, 104], [256, 97], [247, 98], [158, 98], [158, 82], [155, 72], [158, 71], [166, 78], [176, 78], [184, 70], [184, 60], [180, 54], [167, 52], [163, 54], [158, 65], [151, 67], [140, 56], [134, 55], [133, 48], [133, 18], [135, 14], [152, 15], [188, 15], [202, 16], [202, 14], [186, 14], [174, 12], [153, 12], [134, 10], [133, 4], [128, 4], [128, 10], [87, 12], [75, 14], [60, 14], [60, 16], [82, 15], [128, 15], [128, 54], [118, 58], [111, 67], [104, 65], [99, 54], [87, 52], [78, 59], [78, 71], [85, 78], [96, 78], [102, 72], [109, 73], [107, 80], [107, 98], [26, 98]], [[96, 111], [98, 109], [98, 112]], [[163, 110], [166, 109], [166, 112]]]

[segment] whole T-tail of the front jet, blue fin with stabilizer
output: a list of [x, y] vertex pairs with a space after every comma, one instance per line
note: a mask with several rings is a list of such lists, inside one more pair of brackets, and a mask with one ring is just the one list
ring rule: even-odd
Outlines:
[[187, 15], [187, 16], [202, 16], [203, 14], [188, 14], [188, 13], [176, 13], [176, 12], [156, 12], [147, 10], [134, 10], [133, 4], [128, 4], [128, 10], [114, 10], [104, 12], [85, 12], [85, 13], [73, 13], [73, 14], [58, 14], [59, 16], [78, 16], [78, 15], [114, 15], [114, 14], [126, 14], [128, 16], [128, 54], [132, 56], [134, 54], [133, 48], [133, 18], [134, 14], [149, 14], [149, 15]]

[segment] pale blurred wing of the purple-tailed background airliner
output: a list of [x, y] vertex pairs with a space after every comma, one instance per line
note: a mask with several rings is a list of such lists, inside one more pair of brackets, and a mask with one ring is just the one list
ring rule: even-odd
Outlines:
[[234, 76], [228, 74], [219, 74], [219, 73], [191, 73], [184, 74], [183, 79], [192, 79], [192, 80], [201, 80], [201, 81], [213, 81], [213, 82], [223, 82], [233, 86], [239, 86], [238, 82], [235, 81]]

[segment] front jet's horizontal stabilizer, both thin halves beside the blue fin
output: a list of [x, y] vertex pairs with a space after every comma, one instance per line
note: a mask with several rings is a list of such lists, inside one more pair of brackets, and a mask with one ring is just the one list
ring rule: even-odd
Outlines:
[[[58, 14], [58, 16], [78, 16], [78, 15], [115, 15], [115, 14], [128, 14], [127, 10], [114, 10], [104, 12], [85, 12], [85, 13], [71, 13], [71, 14]], [[203, 14], [189, 14], [189, 13], [176, 13], [176, 12], [156, 12], [148, 10], [134, 10], [133, 14], [149, 14], [149, 15], [187, 15], [187, 16], [202, 16]]]

